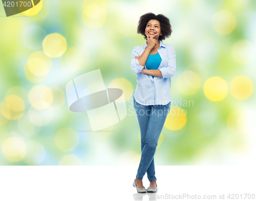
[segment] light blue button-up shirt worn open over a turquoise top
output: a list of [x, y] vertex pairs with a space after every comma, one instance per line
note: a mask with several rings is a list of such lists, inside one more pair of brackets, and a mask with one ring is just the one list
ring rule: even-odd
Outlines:
[[[135, 56], [141, 56], [147, 42], [144, 45], [134, 47], [132, 52], [132, 70], [137, 75], [137, 86], [133, 92], [135, 101], [141, 105], [167, 105], [172, 100], [170, 96], [170, 77], [173, 77], [176, 70], [176, 54], [173, 45], [164, 44], [159, 41], [158, 53], [162, 59], [159, 70], [163, 77], [155, 77], [141, 73], [144, 68], [139, 64]], [[146, 67], [145, 67], [146, 69]]]

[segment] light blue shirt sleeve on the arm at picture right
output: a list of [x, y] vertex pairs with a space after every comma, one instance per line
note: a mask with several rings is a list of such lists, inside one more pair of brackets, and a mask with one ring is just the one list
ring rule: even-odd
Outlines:
[[163, 76], [160, 78], [165, 79], [165, 78], [170, 78], [174, 76], [175, 70], [176, 70], [176, 53], [175, 53], [174, 46], [172, 46], [169, 49], [167, 66], [159, 68], [159, 70], [161, 71]]

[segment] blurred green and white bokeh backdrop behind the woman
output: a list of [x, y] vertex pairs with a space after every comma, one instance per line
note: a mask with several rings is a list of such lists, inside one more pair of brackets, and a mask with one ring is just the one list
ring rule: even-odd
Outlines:
[[[84, 23], [82, 12], [88, 6], [100, 9], [96, 9], [91, 18], [87, 16], [87, 20], [96, 23], [96, 19], [105, 17], [102, 26], [93, 28]], [[214, 29], [212, 18], [222, 10], [236, 20], [236, 27], [229, 34], [219, 34]], [[179, 105], [187, 111], [186, 123], [181, 129], [163, 128], [155, 164], [250, 163], [255, 151], [254, 91], [248, 98], [239, 100], [228, 88], [222, 101], [213, 102], [205, 96], [203, 85], [208, 78], [219, 76], [229, 86], [234, 77], [244, 75], [255, 86], [255, 52], [247, 63], [237, 62], [232, 55], [238, 41], [249, 41], [255, 49], [255, 11], [253, 0], [42, 0], [42, 8], [36, 15], [20, 13], [6, 17], [0, 5], [0, 165], [139, 165], [139, 125], [132, 104], [136, 74], [131, 69], [131, 54], [135, 46], [145, 43], [136, 29], [139, 17], [146, 12], [164, 14], [172, 25], [172, 36], [163, 43], [172, 44], [176, 51], [177, 68], [170, 91], [173, 103], [194, 103], [189, 107]], [[216, 23], [228, 26], [222, 20]], [[65, 37], [68, 49], [61, 57], [51, 58], [52, 67], [46, 79], [31, 82], [25, 76], [24, 67], [31, 54], [43, 51], [42, 41], [52, 33]], [[72, 49], [75, 54], [69, 54]], [[106, 87], [120, 78], [130, 84], [119, 86], [127, 101], [127, 116], [103, 129], [104, 132], [87, 132], [91, 130], [87, 113], [71, 112], [65, 92], [70, 80], [95, 69], [100, 69]], [[185, 70], [194, 71], [200, 77], [200, 87], [191, 95], [182, 93], [176, 83]], [[29, 93], [37, 85], [59, 89], [53, 98], [53, 111], [45, 110], [41, 114], [33, 108]], [[12, 94], [21, 97], [26, 105], [18, 119], [3, 115], [5, 98]], [[31, 110], [43, 119], [50, 119], [49, 122], [42, 126], [34, 124]], [[237, 112], [236, 115], [232, 116], [233, 112]], [[243, 129], [239, 130], [240, 124]], [[8, 139], [19, 140], [8, 144]], [[6, 156], [6, 153], [16, 155]]]

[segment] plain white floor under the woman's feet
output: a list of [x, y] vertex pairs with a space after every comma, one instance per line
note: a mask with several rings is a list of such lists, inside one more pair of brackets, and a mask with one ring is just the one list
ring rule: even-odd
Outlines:
[[[156, 166], [156, 193], [137, 193], [132, 185], [137, 168], [0, 166], [0, 200], [256, 199], [255, 166]], [[146, 174], [142, 181], [147, 188]]]

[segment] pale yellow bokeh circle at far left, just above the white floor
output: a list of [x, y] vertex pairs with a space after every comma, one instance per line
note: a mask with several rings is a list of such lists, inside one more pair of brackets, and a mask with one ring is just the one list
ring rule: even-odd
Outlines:
[[10, 137], [2, 145], [4, 157], [10, 162], [18, 162], [26, 155], [26, 144], [19, 137]]

